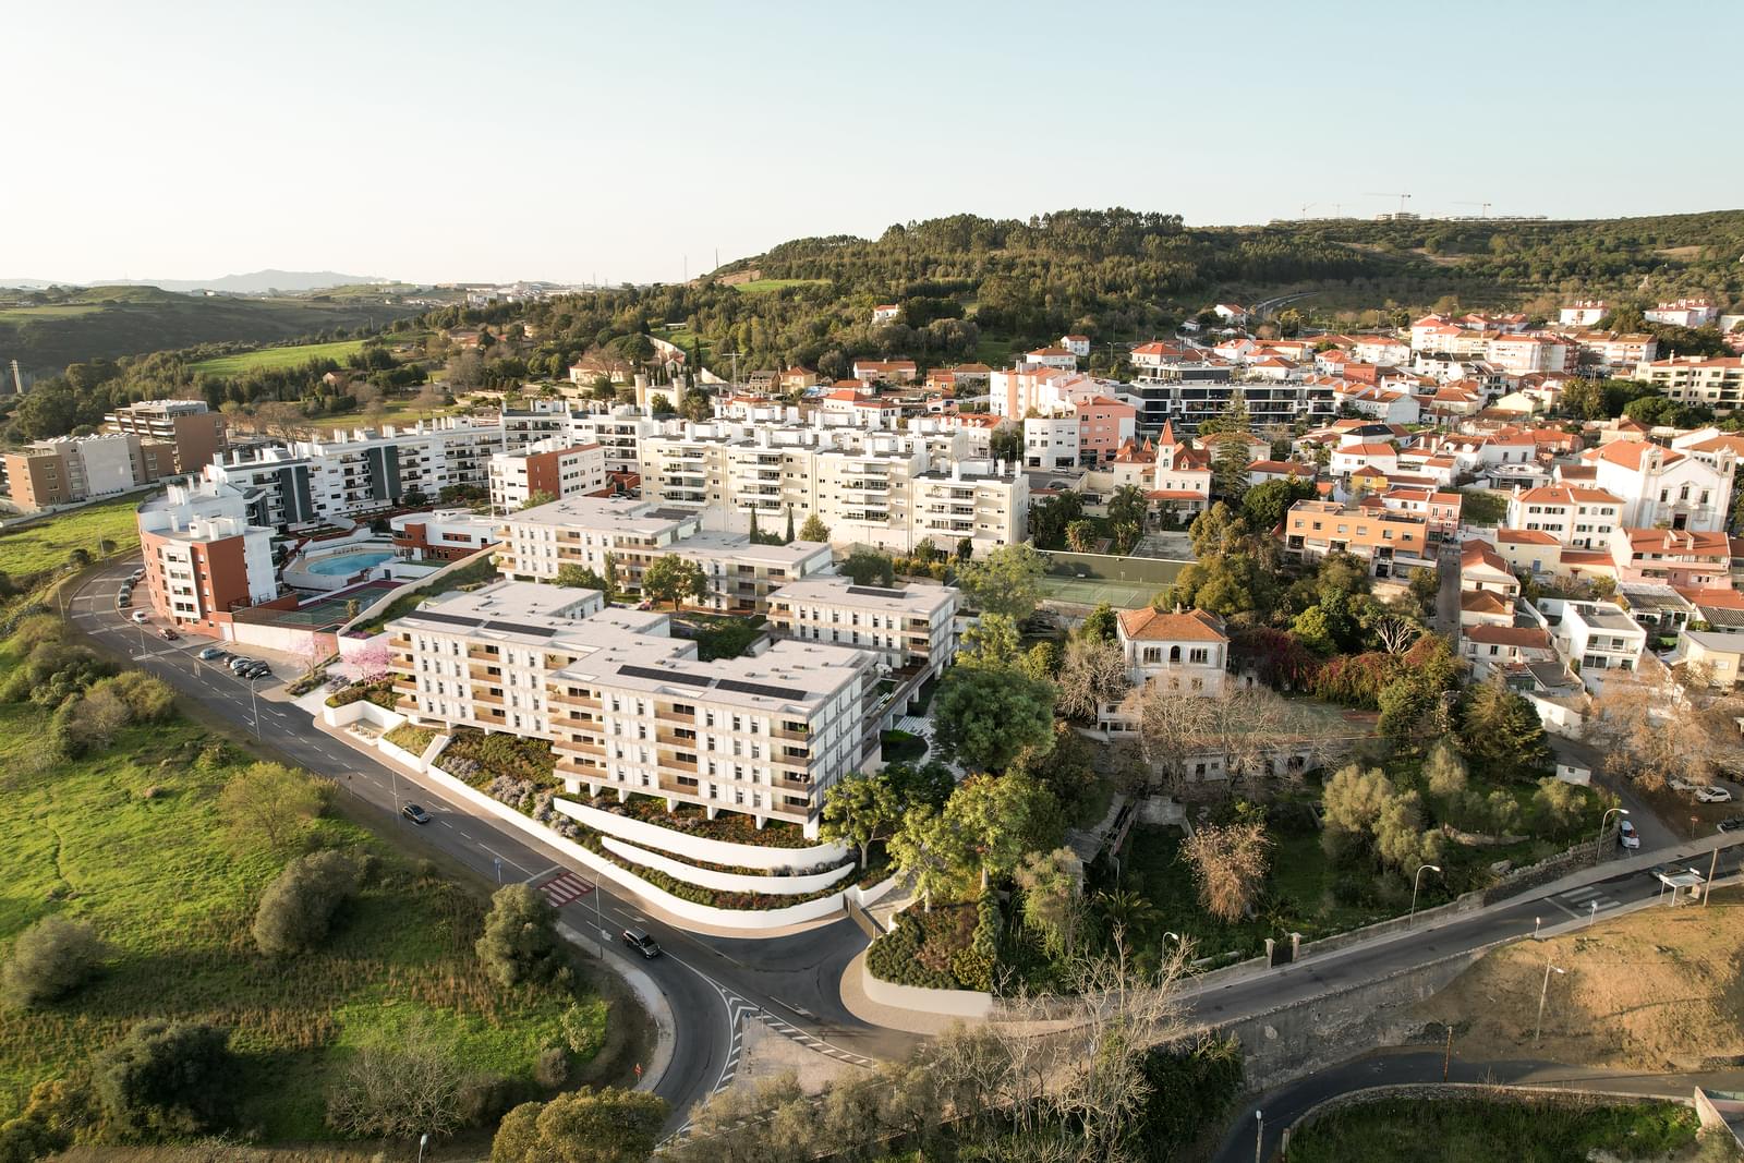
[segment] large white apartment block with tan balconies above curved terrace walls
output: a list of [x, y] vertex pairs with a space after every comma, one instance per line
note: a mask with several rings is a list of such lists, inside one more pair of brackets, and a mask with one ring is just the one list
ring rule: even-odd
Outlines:
[[701, 663], [664, 616], [530, 582], [448, 595], [387, 633], [399, 710], [549, 739], [572, 795], [640, 793], [816, 835], [823, 792], [877, 762], [867, 650], [783, 640]]

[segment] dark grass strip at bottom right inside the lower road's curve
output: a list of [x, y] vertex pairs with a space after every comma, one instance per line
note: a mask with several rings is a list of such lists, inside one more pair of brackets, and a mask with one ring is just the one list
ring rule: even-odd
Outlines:
[[1310, 1123], [1291, 1137], [1291, 1163], [1666, 1160], [1690, 1147], [1695, 1130], [1695, 1111], [1672, 1102], [1599, 1105], [1400, 1098], [1338, 1111]]

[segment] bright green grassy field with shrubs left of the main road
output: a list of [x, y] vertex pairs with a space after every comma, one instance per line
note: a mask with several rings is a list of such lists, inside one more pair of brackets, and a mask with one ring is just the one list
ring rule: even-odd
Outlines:
[[[0, 670], [14, 659], [0, 656]], [[309, 842], [375, 856], [326, 947], [291, 962], [249, 938], [263, 886], [288, 858], [220, 832], [215, 797], [248, 762], [199, 727], [127, 729], [75, 764], [42, 752], [47, 711], [0, 706], [0, 940], [49, 914], [110, 945], [99, 976], [44, 1010], [0, 1011], [0, 1121], [40, 1079], [77, 1072], [145, 1017], [232, 1030], [241, 1128], [270, 1142], [326, 1139], [324, 1095], [358, 1048], [426, 1024], [467, 1071], [530, 1079], [572, 1003], [504, 990], [473, 956], [483, 900], [342, 818]], [[607, 1004], [574, 1004], [603, 1036]], [[595, 1039], [598, 1043], [598, 1037]]]

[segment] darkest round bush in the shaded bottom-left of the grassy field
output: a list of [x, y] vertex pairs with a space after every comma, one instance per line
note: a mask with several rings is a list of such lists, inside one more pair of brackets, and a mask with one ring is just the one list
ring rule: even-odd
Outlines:
[[235, 1078], [227, 1030], [162, 1018], [140, 1022], [91, 1065], [103, 1112], [127, 1137], [223, 1126]]

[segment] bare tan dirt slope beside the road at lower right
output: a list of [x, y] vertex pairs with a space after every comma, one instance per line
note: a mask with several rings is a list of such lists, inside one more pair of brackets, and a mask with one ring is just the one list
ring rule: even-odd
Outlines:
[[[1535, 1057], [1575, 1065], [1695, 1069], [1744, 1055], [1744, 891], [1707, 907], [1645, 908], [1547, 942], [1488, 954], [1416, 1017], [1454, 1029], [1468, 1058]], [[1533, 1024], [1545, 961], [1543, 1041]]]

